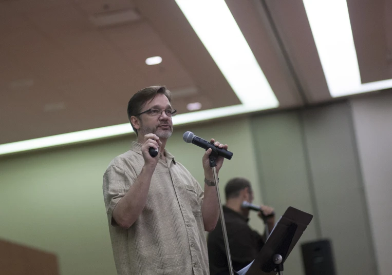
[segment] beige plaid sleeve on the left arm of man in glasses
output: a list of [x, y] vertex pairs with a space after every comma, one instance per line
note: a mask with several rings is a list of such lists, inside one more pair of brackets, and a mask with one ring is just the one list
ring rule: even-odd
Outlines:
[[110, 165], [106, 169], [103, 175], [103, 198], [107, 217], [112, 226], [118, 226], [113, 219], [113, 210], [134, 182], [135, 176], [125, 172], [121, 166]]

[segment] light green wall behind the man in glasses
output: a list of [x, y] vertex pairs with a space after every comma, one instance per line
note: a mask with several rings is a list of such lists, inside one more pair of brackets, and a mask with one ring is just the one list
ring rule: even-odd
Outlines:
[[[260, 202], [247, 119], [175, 129], [167, 146], [203, 182], [203, 149], [182, 141], [191, 130], [230, 145], [233, 159], [220, 171], [220, 192], [233, 176], [246, 176]], [[102, 195], [110, 160], [128, 150], [134, 135], [0, 159], [0, 238], [57, 254], [62, 275], [116, 274]], [[247, 162], [245, 161], [247, 160]], [[262, 230], [262, 223], [252, 225]]]

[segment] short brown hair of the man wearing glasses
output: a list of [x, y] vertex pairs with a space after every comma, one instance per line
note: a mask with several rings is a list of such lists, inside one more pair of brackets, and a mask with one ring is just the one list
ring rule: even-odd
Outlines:
[[[129, 122], [130, 117], [140, 113], [145, 103], [147, 101], [152, 101], [158, 93], [164, 94], [169, 100], [169, 102], [172, 102], [172, 94], [169, 90], [166, 89], [166, 86], [150, 86], [144, 88], [135, 93], [128, 102], [127, 113]], [[132, 129], [134, 129], [137, 135], [138, 130], [134, 128], [132, 122], [130, 122], [130, 125], [132, 126]]]

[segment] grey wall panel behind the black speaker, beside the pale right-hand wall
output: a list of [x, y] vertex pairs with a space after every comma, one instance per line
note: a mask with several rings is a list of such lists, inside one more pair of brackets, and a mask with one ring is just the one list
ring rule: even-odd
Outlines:
[[377, 274], [350, 106], [312, 108], [302, 118], [321, 237], [332, 241], [336, 271]]

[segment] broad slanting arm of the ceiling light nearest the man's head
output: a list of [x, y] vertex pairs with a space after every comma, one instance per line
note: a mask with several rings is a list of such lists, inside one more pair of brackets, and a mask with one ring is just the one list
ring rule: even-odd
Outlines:
[[216, 65], [245, 106], [276, 108], [279, 102], [223, 0], [176, 0]]

